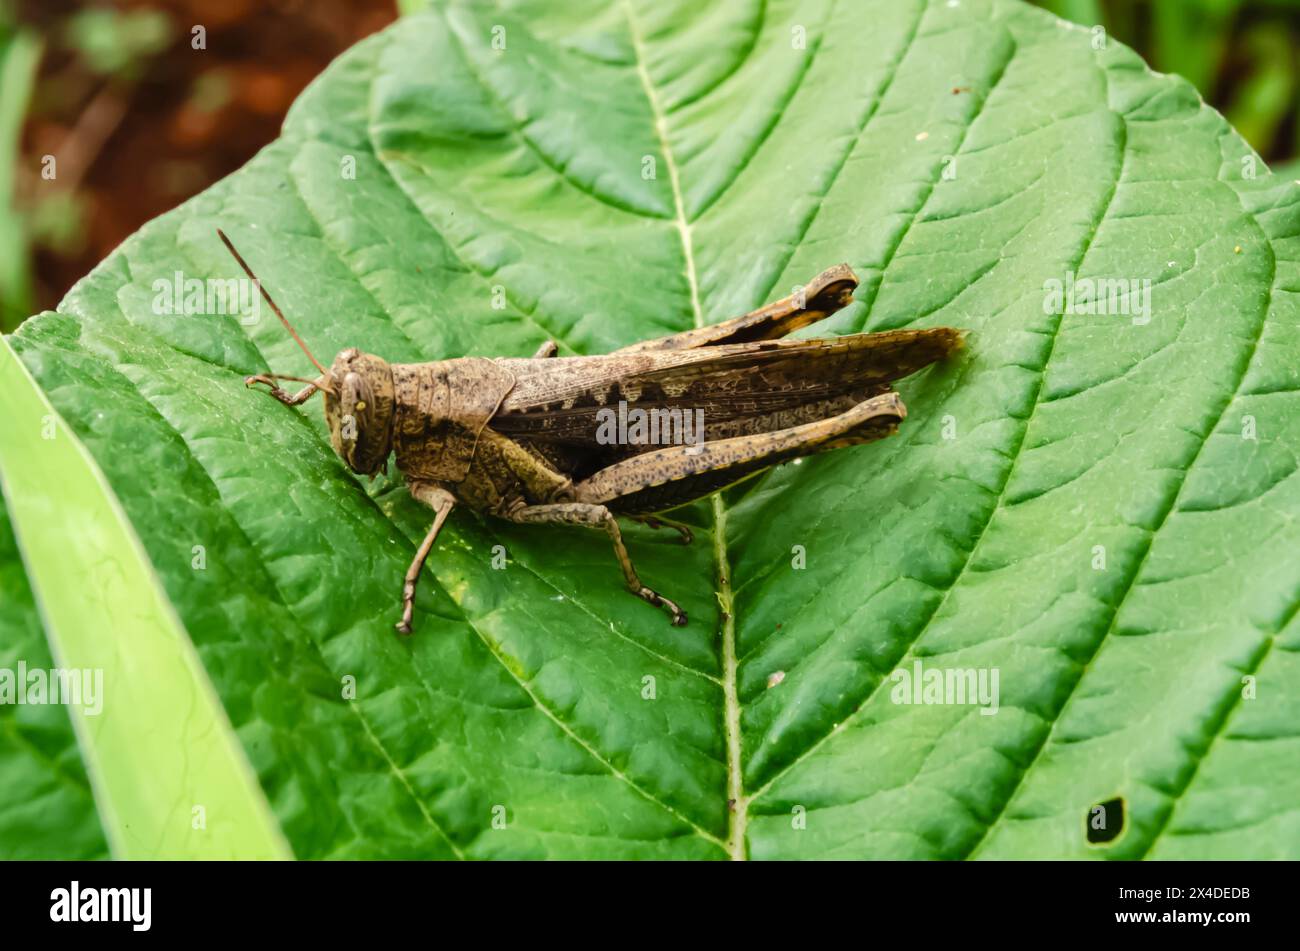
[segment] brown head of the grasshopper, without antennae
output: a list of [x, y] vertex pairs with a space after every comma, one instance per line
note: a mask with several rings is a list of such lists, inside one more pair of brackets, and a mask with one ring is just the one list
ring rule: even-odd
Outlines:
[[352, 472], [373, 476], [393, 448], [393, 372], [356, 347], [339, 351], [329, 368], [325, 421], [334, 452]]

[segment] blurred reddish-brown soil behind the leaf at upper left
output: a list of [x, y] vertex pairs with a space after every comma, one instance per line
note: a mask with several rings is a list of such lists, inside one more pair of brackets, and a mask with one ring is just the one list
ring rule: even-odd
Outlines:
[[[25, 164], [56, 155], [57, 184], [74, 186], [83, 210], [60, 253], [36, 249], [36, 311], [146, 221], [248, 161], [330, 60], [396, 18], [394, 0], [120, 0], [110, 6], [165, 13], [170, 42], [105, 77], [61, 39], [86, 6], [18, 4], [20, 19], [46, 35]], [[191, 45], [195, 25], [207, 30], [205, 49]]]

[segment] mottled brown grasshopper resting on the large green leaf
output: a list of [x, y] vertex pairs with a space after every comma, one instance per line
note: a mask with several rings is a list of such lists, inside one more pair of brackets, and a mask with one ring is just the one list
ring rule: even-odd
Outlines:
[[[604, 529], [628, 589], [684, 625], [677, 604], [641, 583], [615, 516], [668, 525], [689, 543], [690, 530], [662, 512], [779, 463], [890, 435], [906, 416], [890, 383], [962, 342], [952, 327], [780, 339], [852, 301], [858, 279], [841, 264], [742, 317], [604, 356], [558, 357], [547, 342], [530, 359], [390, 364], [348, 347], [325, 369], [217, 234], [321, 374], [259, 374], [244, 385], [265, 383], [290, 407], [324, 392], [330, 442], [348, 468], [373, 477], [395, 452], [411, 495], [434, 512], [406, 573], [403, 634], [411, 631], [416, 579], [458, 501], [512, 522]], [[280, 379], [307, 386], [290, 395]], [[680, 420], [676, 435], [685, 430], [684, 412], [694, 412], [705, 420], [696, 434], [702, 438], [671, 446], [601, 438], [612, 430], [615, 405], [660, 413], [670, 430]]]

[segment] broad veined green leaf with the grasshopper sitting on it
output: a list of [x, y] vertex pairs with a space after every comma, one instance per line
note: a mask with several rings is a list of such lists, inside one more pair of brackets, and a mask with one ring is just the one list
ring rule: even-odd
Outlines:
[[[218, 225], [322, 356], [595, 353], [838, 261], [833, 331], [972, 333], [898, 437], [628, 531], [690, 626], [603, 537], [459, 511], [403, 640], [429, 513], [243, 388], [307, 369], [273, 320], [152, 307], [238, 274]], [[16, 347], [299, 856], [1297, 857], [1297, 230], [1187, 83], [1019, 3], [443, 4]], [[894, 703], [918, 660], [997, 715]]]

